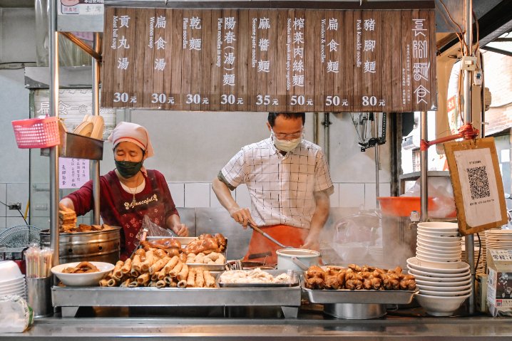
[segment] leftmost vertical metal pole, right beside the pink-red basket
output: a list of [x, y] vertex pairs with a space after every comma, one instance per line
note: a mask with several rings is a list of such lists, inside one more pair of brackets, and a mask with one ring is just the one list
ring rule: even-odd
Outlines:
[[[57, 0], [50, 1], [48, 34], [50, 45], [50, 115], [58, 117], [58, 32]], [[53, 265], [58, 265], [58, 145], [50, 148], [50, 247], [53, 248]]]

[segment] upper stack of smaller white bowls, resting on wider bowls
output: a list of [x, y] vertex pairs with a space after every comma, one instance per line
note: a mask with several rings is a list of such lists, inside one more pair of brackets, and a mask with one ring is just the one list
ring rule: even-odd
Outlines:
[[429, 262], [461, 261], [461, 236], [456, 223], [418, 224], [416, 258]]

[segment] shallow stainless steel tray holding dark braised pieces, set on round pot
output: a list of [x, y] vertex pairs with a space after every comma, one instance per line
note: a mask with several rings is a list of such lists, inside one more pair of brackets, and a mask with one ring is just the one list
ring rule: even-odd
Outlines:
[[311, 303], [409, 304], [419, 290], [312, 290], [302, 283], [302, 291]]

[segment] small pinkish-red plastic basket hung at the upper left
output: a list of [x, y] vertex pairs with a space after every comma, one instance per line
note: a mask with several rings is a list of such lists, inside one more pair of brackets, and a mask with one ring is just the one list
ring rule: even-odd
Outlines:
[[46, 148], [59, 145], [58, 117], [12, 121], [18, 148]]

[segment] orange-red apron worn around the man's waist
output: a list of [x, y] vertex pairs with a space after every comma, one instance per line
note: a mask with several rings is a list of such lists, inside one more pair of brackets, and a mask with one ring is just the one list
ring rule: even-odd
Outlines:
[[[307, 229], [300, 229], [295, 226], [288, 225], [272, 225], [260, 227], [264, 232], [277, 239], [280, 243], [286, 246], [293, 246], [299, 248], [304, 244], [308, 231]], [[277, 264], [277, 255], [275, 251], [282, 248], [276, 243], [270, 241], [268, 238], [252, 231], [251, 241], [249, 243], [249, 250], [244, 256], [244, 261], [261, 261], [265, 265], [274, 266]]]

